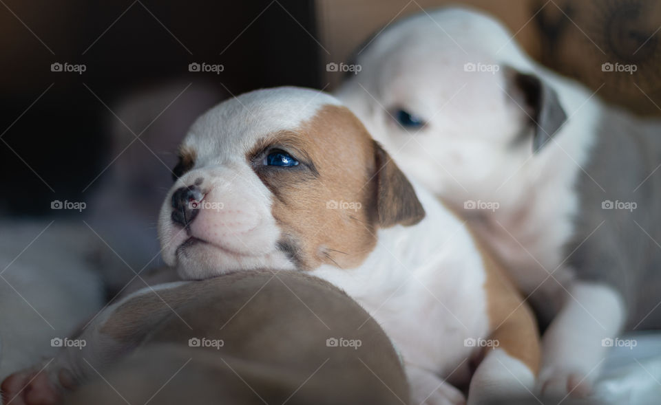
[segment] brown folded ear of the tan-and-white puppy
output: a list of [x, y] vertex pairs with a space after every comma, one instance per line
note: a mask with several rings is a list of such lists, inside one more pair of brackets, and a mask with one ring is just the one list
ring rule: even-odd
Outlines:
[[415, 190], [397, 164], [376, 141], [374, 142], [377, 163], [377, 212], [379, 225], [388, 228], [394, 225], [410, 226], [425, 217], [425, 210], [415, 195]]

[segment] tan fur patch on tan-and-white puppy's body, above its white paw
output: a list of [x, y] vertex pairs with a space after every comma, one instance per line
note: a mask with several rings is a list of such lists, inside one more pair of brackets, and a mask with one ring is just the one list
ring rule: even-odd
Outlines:
[[[474, 236], [475, 238], [475, 236]], [[487, 273], [484, 289], [487, 312], [492, 329], [491, 338], [499, 348], [527, 365], [537, 375], [541, 361], [540, 338], [532, 309], [523, 302], [505, 268], [476, 239]]]

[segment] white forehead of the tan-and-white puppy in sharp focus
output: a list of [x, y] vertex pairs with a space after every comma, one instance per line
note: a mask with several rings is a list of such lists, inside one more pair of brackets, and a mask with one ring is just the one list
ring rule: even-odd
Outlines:
[[[184, 149], [198, 159], [242, 159], [269, 135], [297, 131], [327, 106], [342, 102], [311, 89], [280, 87], [251, 91], [204, 113], [193, 123]], [[222, 163], [222, 162], [221, 162]]]

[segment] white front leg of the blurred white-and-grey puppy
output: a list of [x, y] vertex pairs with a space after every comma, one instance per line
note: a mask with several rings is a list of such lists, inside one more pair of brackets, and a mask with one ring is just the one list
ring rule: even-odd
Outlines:
[[607, 354], [605, 339], [615, 338], [625, 320], [625, 305], [611, 287], [576, 283], [543, 336], [541, 393], [589, 395]]

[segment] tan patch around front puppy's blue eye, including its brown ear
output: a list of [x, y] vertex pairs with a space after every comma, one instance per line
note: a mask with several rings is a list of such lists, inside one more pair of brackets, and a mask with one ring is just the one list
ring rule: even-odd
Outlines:
[[[274, 150], [299, 164], [264, 166]], [[327, 105], [299, 129], [269, 135], [248, 157], [275, 197], [280, 250], [302, 270], [357, 267], [374, 249], [379, 226], [424, 216], [406, 177], [346, 107]]]

